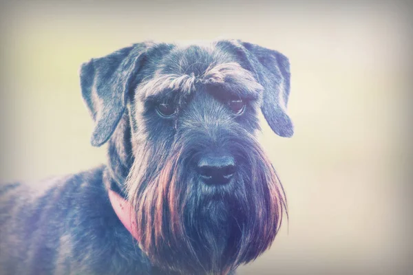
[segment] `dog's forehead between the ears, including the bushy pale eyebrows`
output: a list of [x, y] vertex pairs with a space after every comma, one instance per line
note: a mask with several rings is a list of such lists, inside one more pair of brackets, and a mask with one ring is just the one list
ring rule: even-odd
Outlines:
[[[149, 56], [149, 60], [150, 60]], [[244, 69], [233, 52], [216, 43], [173, 45], [162, 58], [151, 62], [153, 72], [136, 88], [142, 100], [180, 92], [187, 96], [195, 86], [221, 87], [222, 92], [258, 98], [262, 86], [252, 72]]]

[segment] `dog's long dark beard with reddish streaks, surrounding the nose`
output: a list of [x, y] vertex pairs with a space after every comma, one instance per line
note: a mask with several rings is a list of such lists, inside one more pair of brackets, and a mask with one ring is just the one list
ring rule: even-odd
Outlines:
[[158, 157], [159, 148], [142, 146], [147, 157], [136, 158], [127, 188], [140, 248], [153, 265], [226, 274], [271, 246], [286, 209], [284, 190], [255, 138], [241, 136], [229, 142], [238, 172], [224, 186], [203, 184], [190, 168], [199, 144], [178, 140]]

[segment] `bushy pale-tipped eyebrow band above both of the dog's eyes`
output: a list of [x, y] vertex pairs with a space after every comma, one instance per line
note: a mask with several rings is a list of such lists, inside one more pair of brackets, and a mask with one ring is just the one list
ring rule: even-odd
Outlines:
[[144, 80], [136, 90], [144, 98], [165, 98], [171, 92], [180, 91], [182, 96], [191, 94], [197, 85], [217, 87], [221, 91], [241, 98], [258, 98], [264, 89], [253, 74], [238, 63], [211, 64], [203, 74], [160, 74]]

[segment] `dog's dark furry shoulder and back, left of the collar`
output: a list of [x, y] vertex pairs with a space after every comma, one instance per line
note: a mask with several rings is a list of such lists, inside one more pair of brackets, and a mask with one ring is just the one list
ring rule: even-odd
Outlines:
[[[0, 187], [0, 274], [147, 274], [112, 209], [105, 166]], [[13, 248], [13, 249], [10, 249]]]

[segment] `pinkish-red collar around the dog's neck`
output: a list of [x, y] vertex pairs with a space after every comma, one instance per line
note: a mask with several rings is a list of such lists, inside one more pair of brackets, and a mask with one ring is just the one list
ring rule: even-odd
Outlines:
[[131, 233], [132, 236], [138, 241], [138, 227], [136, 225], [136, 216], [134, 208], [129, 201], [120, 197], [120, 195], [114, 190], [109, 189], [109, 200], [114, 208], [116, 215], [123, 223], [125, 228]]

